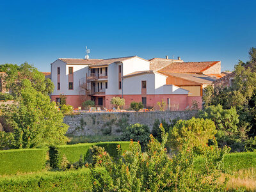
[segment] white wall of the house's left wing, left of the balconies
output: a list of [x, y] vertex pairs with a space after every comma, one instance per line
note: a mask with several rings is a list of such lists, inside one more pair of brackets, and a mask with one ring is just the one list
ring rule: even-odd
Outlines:
[[[60, 90], [58, 88], [57, 68], [60, 67]], [[68, 67], [73, 67], [73, 90], [68, 90]], [[88, 65], [66, 65], [61, 60], [56, 60], [51, 65], [51, 78], [54, 83], [54, 92], [52, 95], [79, 95], [83, 89], [79, 87], [79, 79], [86, 77], [88, 73]]]

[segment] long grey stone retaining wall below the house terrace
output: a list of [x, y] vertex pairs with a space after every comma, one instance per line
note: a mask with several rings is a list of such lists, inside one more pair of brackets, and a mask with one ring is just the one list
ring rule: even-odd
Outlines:
[[67, 134], [75, 136], [88, 135], [119, 135], [129, 124], [145, 124], [152, 129], [156, 119], [166, 122], [177, 118], [188, 120], [198, 111], [154, 111], [132, 113], [82, 113], [81, 115], [65, 116], [64, 123], [69, 125]]

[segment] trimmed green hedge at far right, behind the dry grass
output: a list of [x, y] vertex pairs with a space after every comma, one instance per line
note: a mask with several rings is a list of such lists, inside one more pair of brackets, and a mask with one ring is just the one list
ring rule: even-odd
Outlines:
[[[200, 168], [204, 163], [202, 157], [195, 159], [195, 167]], [[241, 169], [256, 168], [256, 152], [241, 152], [225, 154], [224, 168], [227, 171], [237, 171]]]

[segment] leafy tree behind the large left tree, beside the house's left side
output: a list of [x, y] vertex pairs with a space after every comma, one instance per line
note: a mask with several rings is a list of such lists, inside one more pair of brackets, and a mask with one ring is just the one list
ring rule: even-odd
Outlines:
[[33, 65], [23, 63], [19, 67], [17, 65], [5, 64], [0, 65], [0, 68], [5, 71], [7, 76], [3, 77], [6, 82], [6, 88], [11, 90], [13, 95], [20, 95], [20, 91], [24, 89], [25, 84], [22, 84], [23, 79], [29, 79], [31, 86], [37, 92], [42, 92], [45, 95], [52, 93], [54, 84], [51, 79], [45, 79], [42, 72], [39, 72]]

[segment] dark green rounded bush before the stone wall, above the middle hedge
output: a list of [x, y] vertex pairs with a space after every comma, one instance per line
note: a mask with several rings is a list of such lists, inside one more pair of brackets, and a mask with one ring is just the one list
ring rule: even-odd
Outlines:
[[149, 141], [150, 130], [147, 125], [134, 124], [126, 127], [122, 133], [122, 141], [140, 141], [141, 149], [145, 150]]

